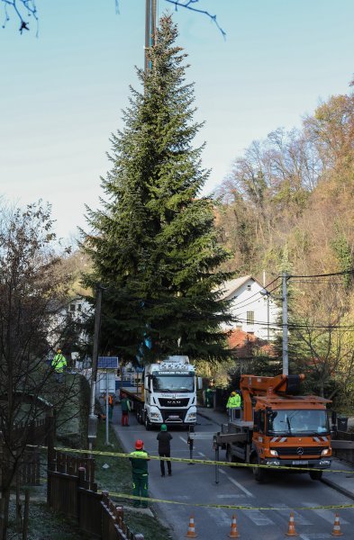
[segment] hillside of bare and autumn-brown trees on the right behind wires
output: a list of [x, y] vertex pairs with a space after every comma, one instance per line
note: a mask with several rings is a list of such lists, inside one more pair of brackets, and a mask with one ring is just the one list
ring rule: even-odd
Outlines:
[[259, 278], [266, 270], [268, 281], [284, 271], [297, 276], [288, 281], [290, 369], [305, 370], [311, 388], [326, 396], [340, 387], [348, 403], [354, 382], [354, 94], [331, 96], [304, 118], [301, 130], [278, 129], [253, 142], [217, 195], [219, 238], [233, 253], [224, 268]]

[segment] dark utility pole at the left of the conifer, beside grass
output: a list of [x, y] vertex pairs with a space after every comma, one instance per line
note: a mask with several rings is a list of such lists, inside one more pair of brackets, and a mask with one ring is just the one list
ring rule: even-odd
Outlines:
[[97, 284], [95, 291], [95, 331], [94, 347], [92, 352], [92, 373], [91, 373], [91, 398], [90, 414], [88, 417], [88, 449], [92, 450], [92, 445], [97, 437], [97, 417], [95, 416], [95, 383], [97, 379], [97, 361], [98, 361], [98, 339], [101, 326], [101, 305], [102, 305], [102, 285]]

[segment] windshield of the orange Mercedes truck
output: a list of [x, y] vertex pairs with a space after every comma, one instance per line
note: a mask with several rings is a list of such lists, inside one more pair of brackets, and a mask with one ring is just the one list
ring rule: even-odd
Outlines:
[[268, 435], [327, 435], [326, 410], [271, 410], [267, 414]]

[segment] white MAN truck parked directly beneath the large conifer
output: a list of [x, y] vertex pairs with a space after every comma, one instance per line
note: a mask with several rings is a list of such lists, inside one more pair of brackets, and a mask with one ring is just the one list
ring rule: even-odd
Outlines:
[[146, 429], [161, 424], [188, 428], [196, 422], [195, 366], [188, 356], [168, 356], [147, 365], [136, 388], [121, 388]]

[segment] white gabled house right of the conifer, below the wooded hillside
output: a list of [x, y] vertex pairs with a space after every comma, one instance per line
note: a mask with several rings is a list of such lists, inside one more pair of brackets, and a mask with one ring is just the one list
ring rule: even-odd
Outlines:
[[251, 275], [244, 275], [225, 282], [222, 299], [231, 300], [231, 313], [237, 317], [236, 323], [224, 329], [241, 329], [256, 338], [272, 340], [281, 327], [281, 314], [277, 303], [267, 289]]

